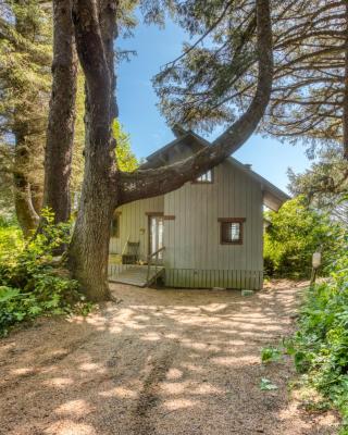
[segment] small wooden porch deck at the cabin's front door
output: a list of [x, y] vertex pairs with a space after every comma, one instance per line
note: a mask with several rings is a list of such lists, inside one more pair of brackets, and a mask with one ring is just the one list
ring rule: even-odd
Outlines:
[[128, 284], [137, 287], [146, 287], [164, 273], [163, 266], [150, 266], [149, 279], [147, 265], [132, 265], [120, 272], [116, 276], [110, 276], [111, 283]]

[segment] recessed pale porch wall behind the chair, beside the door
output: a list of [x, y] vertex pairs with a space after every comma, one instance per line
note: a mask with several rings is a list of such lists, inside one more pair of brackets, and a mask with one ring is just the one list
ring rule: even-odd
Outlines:
[[110, 239], [110, 253], [121, 254], [129, 241], [140, 241], [140, 259], [146, 260], [149, 249], [148, 212], [163, 212], [164, 197], [141, 199], [117, 209], [120, 214], [120, 237]]

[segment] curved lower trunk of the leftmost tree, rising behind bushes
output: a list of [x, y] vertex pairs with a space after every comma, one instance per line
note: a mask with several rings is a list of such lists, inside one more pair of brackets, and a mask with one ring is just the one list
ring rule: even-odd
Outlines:
[[37, 228], [39, 216], [34, 208], [29, 182], [30, 149], [23, 132], [15, 133], [14, 150], [14, 204], [18, 224], [24, 237], [29, 237]]

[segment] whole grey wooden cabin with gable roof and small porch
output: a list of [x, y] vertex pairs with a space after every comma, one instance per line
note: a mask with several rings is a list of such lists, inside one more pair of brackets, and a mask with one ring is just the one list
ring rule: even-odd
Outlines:
[[[210, 144], [192, 132], [149, 156], [142, 167], [188, 158]], [[226, 159], [177, 190], [115, 210], [109, 279], [147, 286], [261, 289], [263, 207], [289, 197], [250, 165]]]

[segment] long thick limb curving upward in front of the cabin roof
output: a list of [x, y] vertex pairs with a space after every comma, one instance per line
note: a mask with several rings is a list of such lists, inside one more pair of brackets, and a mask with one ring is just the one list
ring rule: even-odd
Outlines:
[[248, 110], [214, 140], [212, 147], [206, 147], [182, 162], [156, 170], [121, 173], [119, 204], [164, 195], [179, 188], [223, 162], [251, 136], [264, 114], [272, 90], [273, 50], [269, 0], [257, 0], [257, 34], [258, 86]]

